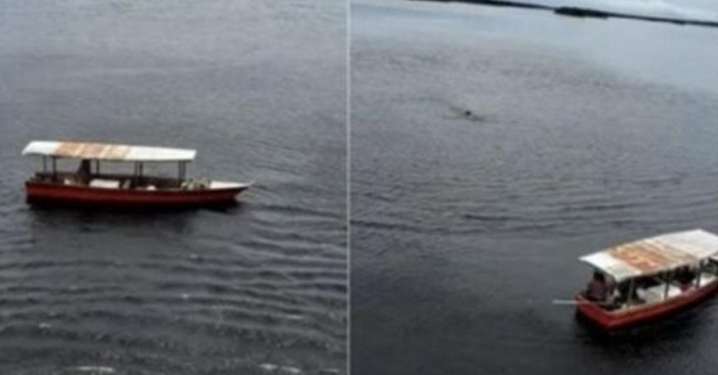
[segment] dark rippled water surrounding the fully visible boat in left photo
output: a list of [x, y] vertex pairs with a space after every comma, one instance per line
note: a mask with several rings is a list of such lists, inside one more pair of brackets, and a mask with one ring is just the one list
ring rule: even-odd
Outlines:
[[[345, 5], [0, 9], [0, 372], [345, 373]], [[225, 211], [33, 209], [20, 152], [58, 138], [257, 185]]]

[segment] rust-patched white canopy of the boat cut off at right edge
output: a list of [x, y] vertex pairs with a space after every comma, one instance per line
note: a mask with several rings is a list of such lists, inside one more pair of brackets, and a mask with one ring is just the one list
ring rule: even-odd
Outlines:
[[703, 230], [693, 230], [636, 240], [580, 259], [621, 282], [695, 265], [716, 253], [718, 236]]

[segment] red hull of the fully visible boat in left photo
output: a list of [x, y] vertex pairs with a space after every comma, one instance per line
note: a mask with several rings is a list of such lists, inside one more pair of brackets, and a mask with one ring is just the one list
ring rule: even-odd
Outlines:
[[30, 203], [112, 206], [118, 208], [183, 208], [236, 204], [235, 196], [247, 187], [198, 190], [136, 190], [89, 188], [27, 182]]

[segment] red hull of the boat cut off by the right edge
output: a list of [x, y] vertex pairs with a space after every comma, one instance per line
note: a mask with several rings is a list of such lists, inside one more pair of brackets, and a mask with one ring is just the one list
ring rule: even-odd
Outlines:
[[716, 291], [718, 291], [718, 279], [711, 283], [706, 283], [700, 288], [683, 292], [679, 296], [667, 301], [651, 303], [630, 310], [613, 311], [601, 308], [599, 305], [583, 298], [581, 294], [576, 295], [575, 299], [578, 302], [576, 309], [579, 315], [600, 328], [616, 330], [619, 328], [633, 327], [649, 320], [663, 318], [699, 301], [705, 300]]

